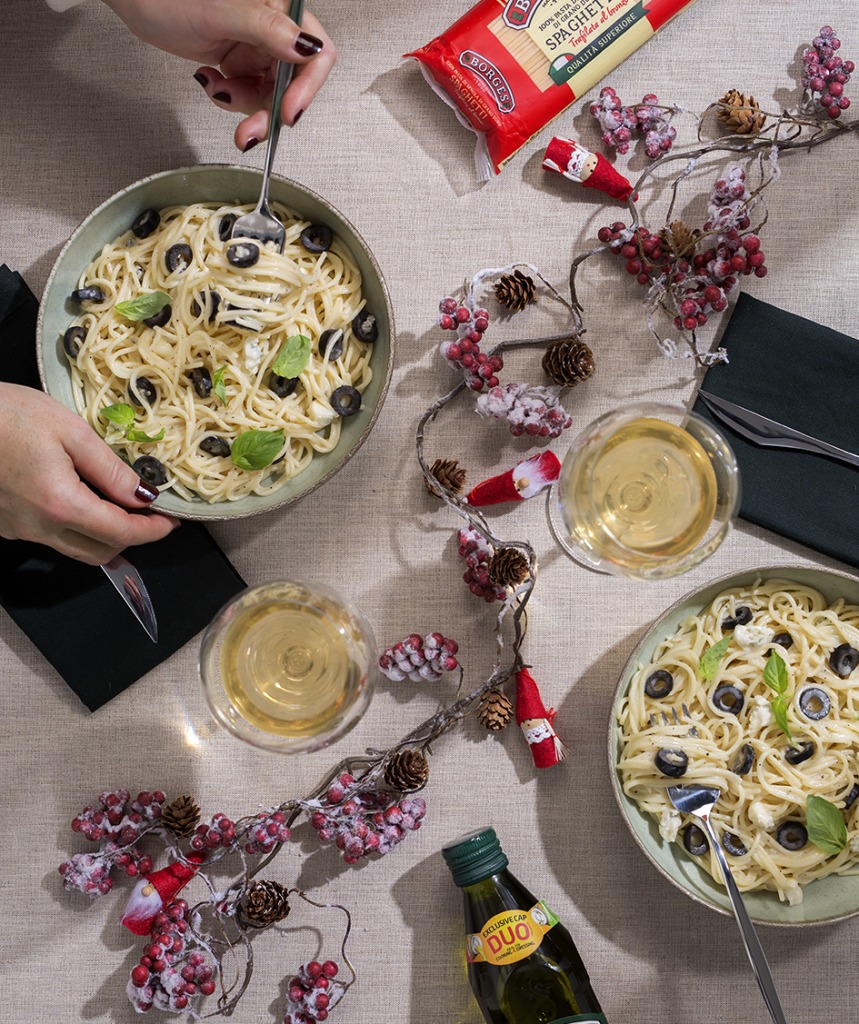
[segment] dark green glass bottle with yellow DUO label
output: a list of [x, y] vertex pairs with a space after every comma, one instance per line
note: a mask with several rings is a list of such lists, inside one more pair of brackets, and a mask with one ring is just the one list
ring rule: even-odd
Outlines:
[[606, 1024], [569, 932], [508, 871], [495, 829], [441, 853], [465, 897], [468, 976], [489, 1024]]

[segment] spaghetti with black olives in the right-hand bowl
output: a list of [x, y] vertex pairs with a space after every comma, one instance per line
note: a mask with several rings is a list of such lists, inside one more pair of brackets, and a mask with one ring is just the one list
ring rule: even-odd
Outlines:
[[[728, 636], [714, 678], [702, 680], [705, 651]], [[658, 819], [665, 841], [680, 841], [694, 819], [673, 809], [667, 791], [678, 779], [660, 771], [657, 754], [681, 751], [688, 759], [682, 784], [721, 790], [711, 818], [741, 890], [773, 890], [799, 903], [802, 886], [844, 872], [859, 857], [859, 671], [845, 678], [832, 668], [832, 651], [844, 644], [859, 645], [859, 606], [828, 605], [818, 591], [787, 581], [759, 581], [681, 623], [636, 671], [618, 706], [624, 792]], [[773, 714], [777, 694], [765, 679], [773, 657], [786, 668], [792, 738]], [[804, 842], [811, 795], [844, 816], [839, 852]], [[713, 850], [700, 861], [721, 879]]]

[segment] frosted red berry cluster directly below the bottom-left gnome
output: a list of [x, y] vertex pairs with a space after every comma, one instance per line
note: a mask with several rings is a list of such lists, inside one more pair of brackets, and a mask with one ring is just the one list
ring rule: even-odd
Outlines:
[[155, 915], [149, 941], [126, 987], [138, 1013], [153, 1007], [188, 1012], [200, 996], [215, 991], [214, 970], [199, 949], [188, 951], [187, 932], [188, 905], [183, 899]]

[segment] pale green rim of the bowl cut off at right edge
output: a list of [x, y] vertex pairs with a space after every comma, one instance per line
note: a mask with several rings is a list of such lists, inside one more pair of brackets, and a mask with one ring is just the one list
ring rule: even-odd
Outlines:
[[[679, 889], [685, 896], [688, 896], [694, 902], [699, 903], [701, 906], [705, 906], [711, 910], [715, 910], [717, 913], [724, 914], [725, 916], [733, 916], [733, 909], [730, 904], [722, 906], [719, 903], [714, 902], [707, 897], [694, 892], [693, 890], [687, 888], [681, 881], [679, 881], [671, 871], [667, 870], [662, 864], [660, 864], [651, 854], [647, 846], [642, 842], [639, 835], [636, 833], [632, 825], [632, 822], [627, 813], [627, 807], [625, 805], [625, 800], [627, 799], [622, 786], [620, 785], [620, 779], [617, 772], [617, 759], [616, 759], [616, 710], [617, 703], [620, 698], [625, 695], [629, 688], [629, 682], [631, 675], [638, 663], [641, 660], [640, 653], [643, 648], [651, 641], [654, 633], [659, 632], [662, 625], [673, 615], [675, 612], [679, 611], [683, 606], [689, 604], [693, 600], [696, 600], [699, 595], [706, 592], [713, 591], [714, 594], [721, 592], [722, 590], [727, 590], [731, 586], [739, 586], [737, 583], [740, 579], [760, 577], [762, 580], [767, 579], [781, 579], [785, 581], [791, 580], [791, 573], [797, 571], [811, 572], [811, 573], [823, 573], [833, 581], [845, 580], [849, 581], [854, 587], [859, 582], [859, 578], [856, 575], [851, 575], [849, 572], [842, 571], [840, 569], [830, 569], [823, 565], [813, 565], [804, 563], [794, 563], [792, 565], [763, 565], [757, 566], [748, 569], [738, 569], [733, 572], [726, 573], [721, 577], [717, 577], [700, 586], [694, 588], [693, 590], [687, 591], [684, 595], [678, 598], [676, 601], [660, 612], [659, 615], [654, 618], [649, 626], [646, 628], [644, 634], [636, 643], [630, 656], [624, 664], [624, 668], [620, 670], [617, 685], [614, 688], [614, 693], [611, 698], [611, 708], [609, 711], [608, 719], [608, 743], [607, 743], [607, 755], [608, 755], [608, 770], [609, 770], [609, 781], [611, 783], [611, 792], [614, 796], [615, 803], [617, 804], [617, 809], [620, 812], [620, 817], [624, 824], [627, 826], [627, 830], [630, 836], [638, 846], [639, 850], [644, 854], [647, 860], [656, 868], [659, 874], [662, 876], [668, 882], [670, 882], [676, 889]], [[813, 586], [808, 584], [808, 586]], [[703, 606], [703, 604], [701, 605]], [[642, 812], [643, 813], [643, 812]], [[829, 876], [827, 879], [815, 880], [815, 881], [828, 881], [828, 879], [837, 879], [837, 876]], [[714, 880], [715, 881], [715, 880]], [[717, 883], [718, 884], [718, 883]], [[809, 886], [814, 885], [814, 883], [809, 883]], [[777, 901], [777, 905], [784, 906], [778, 902], [778, 897], [775, 893], [771, 893], [773, 899]], [[727, 899], [727, 895], [726, 895]], [[746, 909], [748, 907], [746, 906]], [[809, 926], [820, 926], [820, 925], [832, 925], [840, 921], [847, 921], [849, 918], [854, 918], [859, 914], [859, 905], [857, 905], [855, 910], [849, 910], [845, 913], [839, 913], [834, 915], [826, 915], [822, 918], [816, 918], [813, 920], [806, 919], [804, 921], [773, 921], [769, 918], [761, 918], [756, 915], [750, 909], [748, 909], [748, 914], [751, 921], [758, 926], [766, 926], [769, 928], [807, 928]]]

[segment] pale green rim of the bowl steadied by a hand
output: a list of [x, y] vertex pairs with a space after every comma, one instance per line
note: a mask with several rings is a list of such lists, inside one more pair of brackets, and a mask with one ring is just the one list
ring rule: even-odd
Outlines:
[[[98, 206], [96, 206], [93, 210], [91, 210], [77, 224], [75, 228], [73, 228], [73, 230], [67, 238], [66, 242], [63, 243], [62, 248], [59, 250], [56, 259], [53, 261], [50, 273], [48, 274], [47, 281], [45, 282], [45, 287], [42, 290], [42, 297], [39, 300], [39, 310], [36, 316], [36, 364], [39, 370], [39, 381], [42, 385], [42, 390], [46, 394], [50, 395], [51, 392], [48, 390], [47, 387], [47, 380], [45, 375], [45, 361], [43, 354], [44, 337], [43, 337], [42, 327], [43, 327], [43, 316], [45, 308], [43, 300], [44, 296], [48, 294], [50, 287], [53, 284], [55, 275], [59, 271], [60, 264], [62, 263], [63, 257], [66, 256], [66, 253], [69, 250], [69, 248], [74, 244], [75, 240], [84, 230], [86, 225], [90, 222], [90, 220], [92, 220], [93, 217], [96, 217], [102, 210], [111, 206], [112, 203], [116, 202], [121, 196], [125, 195], [126, 193], [129, 193], [135, 188], [140, 188], [152, 181], [157, 181], [163, 178], [170, 178], [182, 174], [195, 174], [201, 171], [239, 171], [243, 175], [252, 175], [252, 176], [258, 176], [260, 179], [262, 178], [262, 171], [257, 170], [256, 168], [253, 167], [243, 167], [241, 164], [221, 164], [221, 163], [190, 164], [185, 167], [176, 167], [169, 170], [156, 171], [153, 174], [147, 174], [145, 177], [138, 178], [135, 181], [129, 182], [127, 185], [124, 185], [122, 188], [118, 189], [113, 195], [109, 196], [105, 200], [99, 203]], [[278, 181], [284, 184], [290, 185], [291, 187], [297, 188], [299, 191], [304, 193], [314, 202], [319, 203], [323, 206], [331, 209], [335, 214], [335, 216], [338, 217], [340, 221], [349, 228], [354, 238], [357, 240], [371, 266], [373, 267], [374, 272], [376, 273], [376, 276], [379, 281], [382, 296], [385, 302], [385, 312], [388, 317], [388, 324], [390, 325], [389, 339], [388, 339], [388, 357], [385, 366], [384, 381], [379, 391], [379, 399], [376, 402], [375, 409], [370, 415], [370, 419], [366, 427], [352, 442], [349, 450], [345, 453], [345, 456], [343, 457], [342, 461], [332, 466], [331, 469], [325, 472], [319, 477], [319, 479], [315, 481], [315, 483], [312, 483], [309, 486], [307, 486], [304, 490], [301, 492], [301, 494], [285, 496], [282, 500], [274, 501], [270, 505], [266, 505], [264, 508], [258, 508], [258, 509], [252, 508], [250, 510], [240, 511], [240, 512], [237, 512], [234, 507], [231, 508], [230, 507], [231, 503], [228, 502], [219, 502], [210, 505], [208, 502], [203, 502], [202, 500], [187, 502], [186, 503], [188, 505], [187, 510], [181, 507], [178, 509], [173, 508], [172, 506], [169, 509], [165, 509], [163, 507], [159, 507], [157, 502], [153, 506], [155, 511], [162, 511], [165, 514], [171, 515], [176, 519], [187, 519], [190, 521], [198, 521], [204, 523], [226, 522], [229, 520], [238, 520], [238, 519], [250, 519], [254, 516], [265, 515], [269, 512], [273, 512], [276, 509], [283, 509], [288, 505], [293, 505], [296, 502], [299, 502], [302, 499], [306, 498], [307, 495], [312, 494], [317, 487], [320, 487], [324, 483], [328, 483], [328, 481], [336, 473], [338, 473], [341, 469], [343, 469], [343, 467], [346, 466], [352, 460], [352, 458], [357, 454], [357, 452], [363, 446], [364, 441], [370, 436], [370, 433], [373, 430], [373, 427], [376, 425], [376, 421], [378, 420], [379, 415], [382, 412], [382, 407], [385, 404], [388, 390], [390, 388], [391, 378], [393, 377], [393, 369], [394, 369], [394, 347], [396, 339], [396, 326], [394, 322], [393, 304], [391, 302], [391, 296], [390, 296], [390, 291], [388, 289], [388, 284], [385, 281], [385, 276], [382, 273], [382, 268], [379, 266], [379, 262], [376, 259], [373, 250], [367, 244], [363, 236], [360, 233], [360, 231], [358, 231], [358, 229], [355, 227], [352, 221], [344, 213], [342, 213], [338, 207], [334, 206], [334, 204], [331, 203], [329, 200], [327, 200], [324, 196], [320, 196], [312, 188], [308, 188], [307, 185], [301, 184], [301, 182], [295, 181], [293, 178], [288, 178], [283, 174], [272, 173], [271, 180]], [[51, 397], [54, 396], [51, 395]], [[55, 400], [58, 401], [59, 399], [57, 398]], [[65, 402], [62, 404], [65, 404]], [[70, 407], [67, 406], [67, 408]], [[72, 412], [77, 413], [77, 410], [73, 409]], [[223, 508], [223, 511], [199, 512], [195, 511], [195, 509], [197, 508], [209, 508], [215, 510], [220, 510], [221, 508]]]

